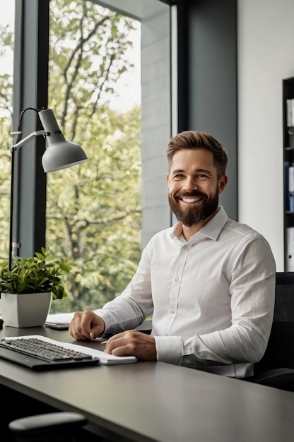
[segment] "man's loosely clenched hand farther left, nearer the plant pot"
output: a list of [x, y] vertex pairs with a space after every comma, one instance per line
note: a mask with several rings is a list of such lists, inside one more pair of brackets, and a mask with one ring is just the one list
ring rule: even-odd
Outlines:
[[105, 322], [93, 311], [74, 313], [69, 323], [69, 333], [79, 340], [93, 340], [105, 330]]

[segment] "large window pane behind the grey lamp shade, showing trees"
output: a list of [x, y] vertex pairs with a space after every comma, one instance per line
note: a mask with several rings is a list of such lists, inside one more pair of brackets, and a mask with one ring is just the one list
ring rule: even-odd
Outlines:
[[141, 25], [82, 0], [50, 1], [49, 107], [88, 162], [47, 174], [47, 249], [72, 266], [51, 312], [122, 292], [141, 255]]

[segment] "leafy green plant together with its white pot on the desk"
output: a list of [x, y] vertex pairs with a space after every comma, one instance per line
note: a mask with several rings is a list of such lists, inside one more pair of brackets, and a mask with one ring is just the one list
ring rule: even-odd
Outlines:
[[35, 327], [46, 321], [51, 300], [66, 297], [62, 277], [69, 273], [66, 260], [53, 258], [48, 251], [30, 258], [15, 258], [10, 270], [0, 270], [0, 310], [5, 325]]

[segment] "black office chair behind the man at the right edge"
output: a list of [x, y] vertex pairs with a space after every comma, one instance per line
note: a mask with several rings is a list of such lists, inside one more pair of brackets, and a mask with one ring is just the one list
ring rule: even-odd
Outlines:
[[274, 322], [264, 357], [245, 381], [294, 391], [294, 272], [276, 273]]

